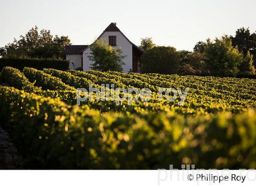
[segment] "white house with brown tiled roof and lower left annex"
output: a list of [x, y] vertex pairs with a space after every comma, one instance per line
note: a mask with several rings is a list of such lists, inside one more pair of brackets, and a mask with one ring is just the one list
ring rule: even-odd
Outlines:
[[[129, 71], [140, 72], [139, 59], [144, 52], [117, 28], [116, 23], [111, 23], [97, 39], [105, 39], [114, 48], [121, 47], [122, 54], [126, 56], [123, 59], [125, 63], [124, 73]], [[65, 52], [66, 59], [70, 60], [70, 69], [83, 67], [84, 71], [90, 70], [90, 64], [93, 63], [88, 59], [88, 55], [91, 53], [90, 46], [70, 45], [66, 46]]]

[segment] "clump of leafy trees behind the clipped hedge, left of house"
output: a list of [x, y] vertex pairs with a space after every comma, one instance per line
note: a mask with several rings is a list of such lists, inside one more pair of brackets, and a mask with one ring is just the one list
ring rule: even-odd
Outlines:
[[68, 36], [58, 36], [54, 38], [51, 31], [42, 29], [38, 33], [38, 27], [32, 27], [25, 36], [20, 36], [20, 40], [14, 38], [13, 43], [0, 48], [2, 57], [40, 57], [40, 58], [65, 58], [64, 48], [70, 45]]

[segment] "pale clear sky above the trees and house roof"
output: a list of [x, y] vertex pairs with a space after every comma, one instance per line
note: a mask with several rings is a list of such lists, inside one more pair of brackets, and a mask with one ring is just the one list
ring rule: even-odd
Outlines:
[[91, 44], [111, 23], [128, 39], [192, 50], [244, 26], [256, 31], [256, 0], [0, 0], [0, 47], [33, 26]]

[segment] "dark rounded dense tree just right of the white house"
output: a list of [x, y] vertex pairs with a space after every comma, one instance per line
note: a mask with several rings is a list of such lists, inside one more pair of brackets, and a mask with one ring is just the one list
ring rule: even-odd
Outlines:
[[141, 68], [143, 73], [174, 74], [179, 72], [180, 61], [176, 48], [158, 46], [141, 56]]

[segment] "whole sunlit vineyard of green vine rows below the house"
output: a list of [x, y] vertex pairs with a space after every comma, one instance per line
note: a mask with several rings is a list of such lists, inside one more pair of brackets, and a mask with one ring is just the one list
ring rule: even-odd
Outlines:
[[[32, 169], [256, 168], [256, 80], [5, 67], [0, 126]], [[152, 97], [85, 100], [76, 88], [149, 88]], [[159, 101], [159, 88], [188, 88]], [[117, 93], [115, 93], [117, 94]]]

